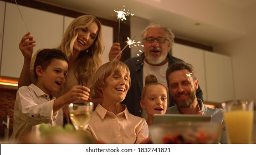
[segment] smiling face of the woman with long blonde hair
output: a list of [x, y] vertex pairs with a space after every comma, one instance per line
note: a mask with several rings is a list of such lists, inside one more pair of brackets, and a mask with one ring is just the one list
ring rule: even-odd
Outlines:
[[80, 52], [88, 49], [95, 41], [99, 33], [99, 27], [95, 22], [91, 22], [88, 27], [78, 29], [78, 37], [74, 43], [74, 51]]

